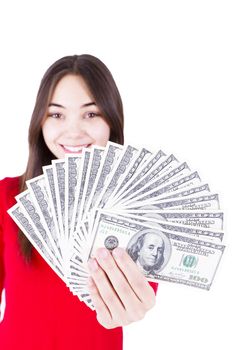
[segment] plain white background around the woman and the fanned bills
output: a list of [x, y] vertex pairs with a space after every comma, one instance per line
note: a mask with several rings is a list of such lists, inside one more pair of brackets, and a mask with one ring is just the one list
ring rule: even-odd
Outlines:
[[212, 289], [161, 283], [155, 308], [125, 328], [125, 349], [232, 348], [231, 5], [225, 0], [0, 5], [0, 179], [24, 171], [28, 123], [44, 71], [62, 56], [90, 53], [115, 77], [126, 142], [173, 152], [220, 195], [227, 248]]

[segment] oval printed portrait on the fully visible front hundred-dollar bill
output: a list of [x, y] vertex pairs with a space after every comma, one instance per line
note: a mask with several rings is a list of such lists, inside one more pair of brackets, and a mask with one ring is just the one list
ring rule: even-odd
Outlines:
[[145, 276], [155, 276], [163, 270], [171, 256], [171, 244], [157, 229], [143, 229], [136, 233], [126, 248]]

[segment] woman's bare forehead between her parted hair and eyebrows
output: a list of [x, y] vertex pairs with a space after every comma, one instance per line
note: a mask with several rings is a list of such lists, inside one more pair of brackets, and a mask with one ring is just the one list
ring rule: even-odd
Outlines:
[[62, 104], [66, 101], [90, 102], [92, 99], [90, 90], [84, 79], [79, 75], [68, 74], [59, 80], [53, 91], [51, 101]]

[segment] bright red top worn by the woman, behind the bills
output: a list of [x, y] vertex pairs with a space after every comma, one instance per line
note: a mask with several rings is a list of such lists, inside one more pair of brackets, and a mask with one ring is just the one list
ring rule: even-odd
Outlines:
[[[6, 212], [18, 193], [18, 177], [0, 181], [0, 295], [6, 292], [0, 349], [121, 350], [121, 327], [101, 326], [34, 248], [32, 261], [25, 262], [18, 226]], [[152, 286], [156, 291], [157, 284]]]

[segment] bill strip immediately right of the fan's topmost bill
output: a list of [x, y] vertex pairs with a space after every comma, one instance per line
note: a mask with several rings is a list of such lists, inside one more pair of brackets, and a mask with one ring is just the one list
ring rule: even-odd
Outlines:
[[113, 193], [114, 189], [120, 182], [121, 178], [124, 176], [127, 168], [134, 162], [135, 157], [138, 154], [138, 149], [128, 145], [123, 151], [121, 156], [112, 170], [113, 175], [109, 176], [105, 183], [105, 188], [103, 194], [100, 196], [96, 203], [96, 206], [103, 208], [106, 202], [109, 200], [110, 195]]

